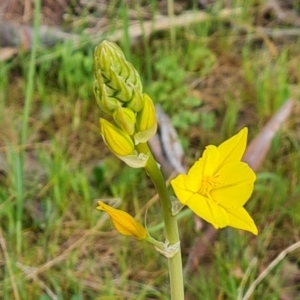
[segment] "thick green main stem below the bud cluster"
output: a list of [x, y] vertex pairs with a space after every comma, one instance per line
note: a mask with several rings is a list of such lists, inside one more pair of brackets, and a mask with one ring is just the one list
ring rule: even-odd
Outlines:
[[[164, 225], [166, 237], [170, 245], [177, 244], [179, 242], [179, 233], [177, 226], [176, 217], [172, 216], [171, 213], [171, 199], [165, 184], [165, 179], [153, 158], [151, 151], [147, 144], [139, 144], [136, 146], [137, 150], [142, 153], [150, 153], [145, 170], [153, 182], [162, 206]], [[170, 276], [170, 289], [172, 300], [183, 300], [183, 272], [182, 272], [182, 261], [181, 261], [181, 249], [180, 245], [178, 252], [171, 258], [168, 258], [169, 263], [169, 276]]]

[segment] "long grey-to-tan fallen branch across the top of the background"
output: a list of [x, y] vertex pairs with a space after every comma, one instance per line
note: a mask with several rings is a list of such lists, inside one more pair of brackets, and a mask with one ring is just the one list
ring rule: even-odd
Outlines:
[[[156, 19], [145, 21], [143, 26], [139, 23], [131, 24], [128, 28], [131, 43], [138, 42], [142, 36], [150, 37], [156, 31], [168, 30], [174, 27], [185, 27], [197, 22], [204, 22], [212, 18], [229, 18], [241, 13], [241, 9], [224, 9], [218, 16], [211, 16], [205, 12], [187, 12], [174, 17], [172, 24], [167, 16], [157, 16]], [[21, 47], [29, 49], [32, 47], [33, 29], [30, 26], [19, 25], [13, 22], [4, 21], [0, 18], [0, 46], [1, 47]], [[63, 41], [72, 41], [74, 46], [80, 46], [80, 36], [61, 31], [56, 27], [41, 26], [39, 31], [41, 44], [44, 46], [53, 46]], [[119, 42], [123, 36], [123, 29], [117, 30], [113, 34], [107, 35], [100, 32], [97, 35], [90, 36], [93, 44], [98, 44], [104, 38], [110, 41]]]

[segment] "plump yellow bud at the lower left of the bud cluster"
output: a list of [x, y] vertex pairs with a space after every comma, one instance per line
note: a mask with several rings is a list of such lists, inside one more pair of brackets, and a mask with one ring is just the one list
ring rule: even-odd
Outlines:
[[105, 119], [100, 119], [100, 133], [109, 149], [117, 156], [128, 156], [134, 153], [130, 136]]

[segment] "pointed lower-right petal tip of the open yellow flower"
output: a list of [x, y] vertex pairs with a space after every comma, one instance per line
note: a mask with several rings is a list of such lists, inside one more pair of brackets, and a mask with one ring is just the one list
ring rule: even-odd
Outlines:
[[258, 234], [253, 219], [244, 208], [226, 209], [226, 211], [230, 222], [229, 226], [250, 231], [255, 235]]

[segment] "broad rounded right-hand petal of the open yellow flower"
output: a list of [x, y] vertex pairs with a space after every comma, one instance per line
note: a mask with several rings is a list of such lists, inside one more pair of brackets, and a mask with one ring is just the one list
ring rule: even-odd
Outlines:
[[211, 190], [211, 197], [225, 208], [242, 207], [253, 192], [252, 169], [243, 162], [228, 163], [217, 175], [220, 185]]

